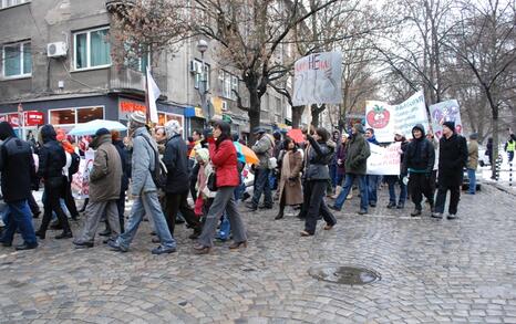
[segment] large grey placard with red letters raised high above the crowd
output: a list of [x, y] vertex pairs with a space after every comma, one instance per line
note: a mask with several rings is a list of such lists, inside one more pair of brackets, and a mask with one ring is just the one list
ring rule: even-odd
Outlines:
[[295, 106], [342, 103], [342, 53], [323, 52], [296, 61]]

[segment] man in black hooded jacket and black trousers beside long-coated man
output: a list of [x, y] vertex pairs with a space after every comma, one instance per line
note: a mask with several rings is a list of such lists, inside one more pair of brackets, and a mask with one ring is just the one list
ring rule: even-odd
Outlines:
[[430, 202], [433, 211], [434, 197], [432, 192], [432, 170], [435, 163], [433, 144], [425, 138], [424, 127], [421, 124], [412, 128], [412, 142], [409, 143], [403, 158], [402, 178], [409, 175], [409, 188], [414, 202], [412, 217], [421, 215], [423, 195]]

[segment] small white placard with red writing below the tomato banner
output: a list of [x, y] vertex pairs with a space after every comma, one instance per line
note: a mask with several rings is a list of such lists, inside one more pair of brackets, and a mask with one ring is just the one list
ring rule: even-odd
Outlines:
[[401, 143], [396, 142], [386, 147], [369, 144], [371, 156], [368, 158], [368, 175], [399, 176], [401, 167]]

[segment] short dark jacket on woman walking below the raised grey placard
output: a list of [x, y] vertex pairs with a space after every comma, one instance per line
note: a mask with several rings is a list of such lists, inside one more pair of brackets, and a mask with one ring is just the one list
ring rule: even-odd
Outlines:
[[311, 136], [308, 136], [308, 140], [310, 142], [310, 149], [305, 178], [309, 181], [330, 179], [328, 164], [333, 157], [333, 149], [328, 147], [328, 145], [323, 142], [317, 142]]

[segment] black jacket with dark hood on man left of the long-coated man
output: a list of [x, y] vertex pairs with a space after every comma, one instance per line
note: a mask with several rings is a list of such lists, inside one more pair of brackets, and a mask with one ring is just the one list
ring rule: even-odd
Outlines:
[[432, 143], [426, 139], [423, 125], [416, 125], [412, 130], [420, 129], [422, 135], [406, 145], [402, 160], [402, 175], [410, 173], [432, 174], [435, 163], [435, 150]]

